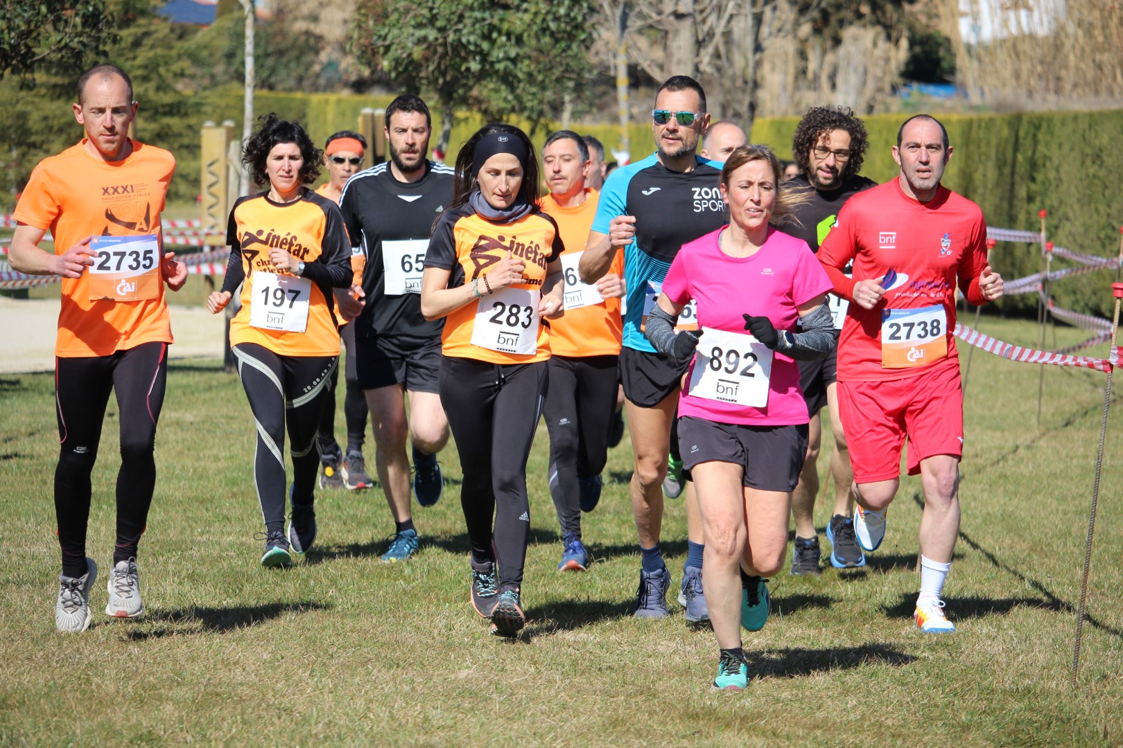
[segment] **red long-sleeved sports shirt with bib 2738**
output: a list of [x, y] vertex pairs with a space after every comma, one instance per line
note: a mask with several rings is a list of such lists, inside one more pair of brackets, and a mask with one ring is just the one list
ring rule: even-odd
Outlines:
[[[873, 310], [850, 304], [839, 339], [838, 378], [880, 381], [957, 366], [956, 280], [982, 304], [986, 223], [978, 205], [946, 187], [921, 203], [900, 178], [853, 195], [818, 257], [834, 293], [853, 301], [853, 286], [882, 278], [885, 297]], [[853, 277], [842, 268], [853, 260]]]

